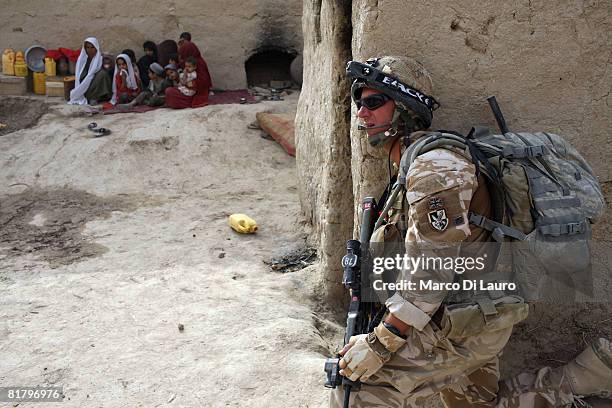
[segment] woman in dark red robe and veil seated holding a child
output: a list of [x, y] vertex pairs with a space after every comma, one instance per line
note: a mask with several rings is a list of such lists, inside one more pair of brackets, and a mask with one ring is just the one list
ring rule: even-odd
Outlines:
[[[182, 37], [182, 36], [181, 36]], [[179, 48], [179, 63], [181, 68], [185, 68], [185, 61], [189, 57], [193, 57], [196, 60], [196, 75], [197, 78], [194, 81], [195, 95], [189, 96], [184, 95], [179, 91], [178, 88], [167, 88], [166, 89], [166, 106], [174, 109], [183, 108], [199, 108], [201, 106], [208, 105], [208, 92], [212, 86], [212, 80], [208, 73], [208, 66], [206, 61], [202, 58], [200, 50], [191, 41], [182, 38], [183, 43]]]

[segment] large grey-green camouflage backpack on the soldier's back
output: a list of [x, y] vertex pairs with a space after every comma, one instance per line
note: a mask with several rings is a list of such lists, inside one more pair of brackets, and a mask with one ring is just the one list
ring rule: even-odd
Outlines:
[[400, 183], [417, 156], [437, 148], [462, 152], [487, 179], [492, 215], [471, 213], [469, 221], [511, 244], [512, 280], [525, 300], [541, 299], [544, 275], [567, 280], [588, 269], [590, 225], [602, 216], [604, 198], [591, 167], [566, 140], [484, 128], [468, 136], [431, 132], [405, 151]]

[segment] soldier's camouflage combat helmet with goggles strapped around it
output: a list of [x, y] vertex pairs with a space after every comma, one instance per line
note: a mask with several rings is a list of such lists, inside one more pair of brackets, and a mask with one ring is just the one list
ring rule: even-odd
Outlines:
[[[361, 98], [363, 88], [376, 89], [395, 101], [395, 112], [389, 129], [370, 138], [373, 146], [382, 145], [399, 132], [408, 135], [431, 125], [433, 111], [440, 104], [431, 96], [432, 81], [427, 70], [416, 60], [401, 56], [370, 58], [365, 63], [349, 61], [353, 101]], [[401, 120], [400, 120], [401, 119]]]

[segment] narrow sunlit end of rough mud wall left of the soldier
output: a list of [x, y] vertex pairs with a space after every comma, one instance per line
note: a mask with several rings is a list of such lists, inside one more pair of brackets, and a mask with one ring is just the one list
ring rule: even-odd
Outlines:
[[304, 79], [296, 117], [298, 189], [313, 226], [322, 282], [328, 297], [341, 298], [340, 258], [351, 238], [353, 213], [349, 123], [344, 67], [350, 59], [350, 2], [305, 0], [302, 24]]

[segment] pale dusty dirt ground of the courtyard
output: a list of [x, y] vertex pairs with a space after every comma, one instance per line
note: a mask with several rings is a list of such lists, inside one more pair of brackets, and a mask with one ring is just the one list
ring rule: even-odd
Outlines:
[[0, 384], [63, 385], [65, 407], [325, 405], [312, 270], [262, 262], [304, 245], [295, 161], [246, 129], [296, 101], [52, 106], [0, 136]]

